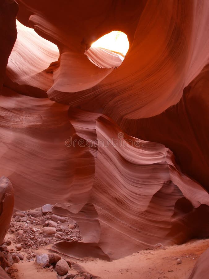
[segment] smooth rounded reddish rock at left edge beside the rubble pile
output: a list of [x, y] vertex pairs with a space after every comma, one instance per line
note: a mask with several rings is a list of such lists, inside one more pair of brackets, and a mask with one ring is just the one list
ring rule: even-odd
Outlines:
[[0, 245], [9, 229], [14, 207], [14, 192], [9, 179], [0, 177]]

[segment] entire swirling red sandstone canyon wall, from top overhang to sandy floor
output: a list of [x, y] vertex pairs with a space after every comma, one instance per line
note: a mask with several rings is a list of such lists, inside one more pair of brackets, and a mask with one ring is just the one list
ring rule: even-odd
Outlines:
[[[17, 2], [59, 53], [18, 24], [0, 100], [15, 209], [56, 204], [84, 239], [54, 250], [79, 257], [208, 237], [208, 1]], [[128, 35], [124, 60], [90, 48], [112, 30]]]

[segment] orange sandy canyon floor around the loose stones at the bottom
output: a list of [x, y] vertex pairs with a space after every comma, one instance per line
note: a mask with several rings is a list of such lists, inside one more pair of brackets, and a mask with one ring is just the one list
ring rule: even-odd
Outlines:
[[[15, 242], [12, 233], [7, 233], [6, 240], [11, 240], [8, 249], [14, 251]], [[34, 253], [43, 253], [50, 249], [49, 246], [31, 250]], [[94, 278], [102, 279], [186, 279], [189, 277], [194, 264], [199, 256], [209, 247], [209, 239], [191, 240], [182, 245], [165, 246], [166, 250], [141, 250], [133, 255], [115, 261], [104, 261], [101, 259], [85, 258], [70, 259], [72, 269], [74, 266], [79, 267], [89, 273]], [[26, 260], [27, 253], [22, 250], [19, 252], [24, 256], [24, 260], [15, 263], [11, 269], [11, 278], [13, 279], [53, 279], [62, 278], [57, 276], [55, 271], [47, 268], [40, 268], [35, 260], [28, 262]], [[181, 259], [182, 263], [177, 264], [177, 260]]]

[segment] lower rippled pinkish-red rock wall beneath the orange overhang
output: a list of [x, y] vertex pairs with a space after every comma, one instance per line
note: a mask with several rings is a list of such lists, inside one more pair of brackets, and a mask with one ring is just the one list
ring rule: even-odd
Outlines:
[[124, 135], [102, 114], [67, 113], [66, 105], [6, 88], [1, 106], [1, 171], [16, 209], [58, 202], [78, 218], [83, 241], [110, 259], [208, 236], [209, 195], [162, 144]]

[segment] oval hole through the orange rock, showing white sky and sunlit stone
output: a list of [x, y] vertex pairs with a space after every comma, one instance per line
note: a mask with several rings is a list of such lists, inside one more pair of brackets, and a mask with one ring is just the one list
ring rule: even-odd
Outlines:
[[118, 68], [129, 48], [128, 37], [121, 31], [112, 31], [94, 42], [85, 54], [100, 68]]

